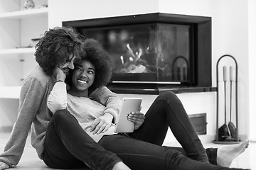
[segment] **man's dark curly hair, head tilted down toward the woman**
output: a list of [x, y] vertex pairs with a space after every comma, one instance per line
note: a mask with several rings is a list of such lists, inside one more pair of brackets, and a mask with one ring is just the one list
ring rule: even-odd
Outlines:
[[65, 64], [70, 55], [80, 58], [84, 54], [82, 35], [73, 28], [56, 27], [49, 29], [36, 44], [36, 62], [47, 75], [53, 74], [53, 69]]

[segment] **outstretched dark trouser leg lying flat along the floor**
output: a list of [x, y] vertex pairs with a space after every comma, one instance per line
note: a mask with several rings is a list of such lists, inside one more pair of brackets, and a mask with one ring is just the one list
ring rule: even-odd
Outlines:
[[132, 170], [229, 169], [190, 159], [172, 147], [161, 147], [124, 135], [105, 135], [99, 144], [116, 153]]

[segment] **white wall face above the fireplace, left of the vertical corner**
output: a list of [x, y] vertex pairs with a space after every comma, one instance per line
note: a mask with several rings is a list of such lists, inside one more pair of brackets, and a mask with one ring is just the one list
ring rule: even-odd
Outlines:
[[[158, 1], [49, 1], [50, 28], [62, 26], [62, 21], [72, 21], [89, 18], [105, 18], [111, 16], [126, 16], [132, 14], [152, 13], [158, 11]], [[61, 4], [61, 5], [60, 5]], [[61, 6], [61, 8], [60, 8]], [[57, 12], [56, 12], [57, 11]], [[58, 13], [58, 14], [57, 14]]]

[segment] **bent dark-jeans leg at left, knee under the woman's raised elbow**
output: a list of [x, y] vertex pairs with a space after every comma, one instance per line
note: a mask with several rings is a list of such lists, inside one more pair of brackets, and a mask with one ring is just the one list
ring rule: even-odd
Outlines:
[[105, 170], [112, 169], [121, 159], [98, 145], [73, 115], [62, 110], [48, 124], [43, 161], [57, 169], [74, 169], [86, 164], [91, 169]]

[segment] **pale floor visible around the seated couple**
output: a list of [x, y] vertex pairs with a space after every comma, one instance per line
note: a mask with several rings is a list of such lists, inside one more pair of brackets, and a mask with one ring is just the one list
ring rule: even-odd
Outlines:
[[[9, 140], [9, 133], [0, 133], [0, 152], [4, 151], [4, 146], [6, 145], [6, 142]], [[205, 147], [223, 147], [223, 145], [216, 145], [213, 143], [207, 143], [203, 144]], [[234, 159], [233, 164], [231, 167], [234, 168], [250, 168], [256, 170], [256, 143], [250, 142], [249, 148], [245, 150], [244, 153], [242, 153], [239, 157]], [[23, 155], [21, 157], [21, 161], [18, 163], [18, 166], [16, 166], [15, 169], [18, 170], [44, 170], [44, 169], [50, 169], [48, 166], [46, 166], [43, 161], [41, 161], [37, 154], [36, 150], [33, 149], [30, 143], [30, 139], [28, 137], [26, 142], [26, 147], [24, 149]], [[55, 169], [56, 170], [56, 169]]]

